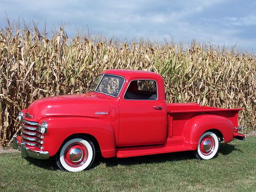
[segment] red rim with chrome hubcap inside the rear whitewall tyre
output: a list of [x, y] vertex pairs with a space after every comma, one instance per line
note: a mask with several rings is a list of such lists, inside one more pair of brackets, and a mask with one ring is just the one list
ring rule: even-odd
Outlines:
[[200, 151], [203, 155], [208, 156], [214, 152], [215, 149], [215, 140], [210, 135], [207, 135], [202, 138], [200, 141]]

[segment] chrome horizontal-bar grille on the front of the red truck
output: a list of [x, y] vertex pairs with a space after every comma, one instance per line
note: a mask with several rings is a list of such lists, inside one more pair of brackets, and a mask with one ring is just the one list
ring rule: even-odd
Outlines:
[[44, 141], [44, 136], [41, 133], [40, 124], [37, 122], [22, 120], [22, 138], [26, 145], [36, 146], [40, 150], [43, 149], [41, 146]]

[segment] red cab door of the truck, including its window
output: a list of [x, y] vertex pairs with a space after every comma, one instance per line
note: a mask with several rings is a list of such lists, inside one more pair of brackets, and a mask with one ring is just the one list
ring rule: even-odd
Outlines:
[[164, 104], [156, 80], [132, 80], [120, 99], [118, 146], [162, 144], [167, 134]]

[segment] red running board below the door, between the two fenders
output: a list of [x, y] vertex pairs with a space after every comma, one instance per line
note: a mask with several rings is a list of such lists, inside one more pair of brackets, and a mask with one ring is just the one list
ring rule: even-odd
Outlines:
[[162, 153], [182, 152], [193, 150], [185, 145], [155, 145], [155, 146], [142, 146], [142, 147], [127, 147], [118, 148], [116, 156], [118, 158], [135, 157], [143, 155], [154, 155]]

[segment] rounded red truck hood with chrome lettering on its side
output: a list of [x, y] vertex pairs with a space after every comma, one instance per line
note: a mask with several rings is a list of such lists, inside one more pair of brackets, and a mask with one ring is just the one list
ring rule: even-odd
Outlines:
[[46, 97], [32, 102], [27, 113], [25, 118], [31, 115], [33, 116], [31, 120], [37, 122], [41, 118], [51, 116], [108, 118], [110, 101], [108, 98], [88, 93]]

